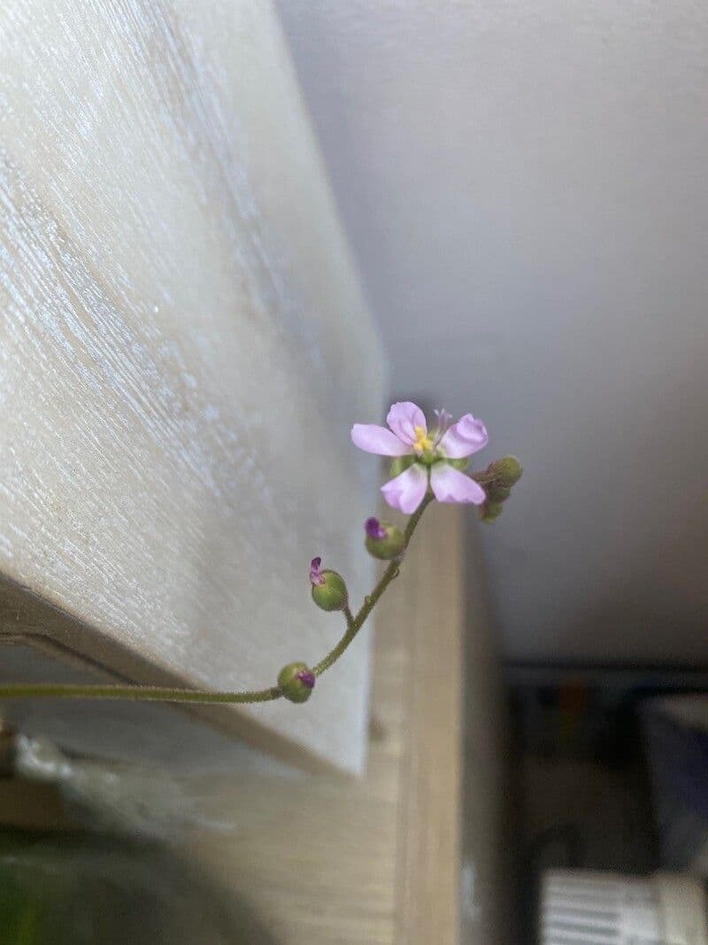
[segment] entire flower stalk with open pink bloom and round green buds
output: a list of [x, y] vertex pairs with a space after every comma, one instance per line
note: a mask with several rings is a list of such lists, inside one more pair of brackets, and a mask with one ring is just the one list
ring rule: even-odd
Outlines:
[[312, 558], [310, 583], [312, 600], [321, 610], [340, 610], [346, 631], [339, 642], [312, 669], [305, 662], [290, 662], [278, 675], [278, 685], [266, 689], [216, 692], [204, 689], [180, 689], [169, 686], [77, 685], [75, 683], [10, 683], [0, 685], [0, 699], [8, 698], [81, 698], [126, 699], [143, 702], [179, 702], [201, 704], [271, 702], [286, 698], [305, 702], [317, 677], [337, 662], [355, 639], [379, 598], [398, 576], [399, 568], [423, 512], [436, 499], [480, 508], [480, 518], [491, 522], [498, 517], [522, 473], [515, 456], [503, 456], [484, 472], [464, 473], [468, 457], [486, 446], [484, 424], [472, 414], [452, 423], [446, 410], [436, 410], [437, 426], [429, 432], [423, 411], [408, 401], [393, 404], [386, 427], [355, 423], [351, 439], [366, 453], [392, 457], [394, 478], [381, 487], [386, 502], [409, 516], [403, 532], [391, 524], [369, 518], [364, 530], [365, 546], [374, 558], [389, 563], [374, 590], [363, 599], [353, 614], [349, 608], [344, 578], [336, 571], [322, 568], [322, 558]]

